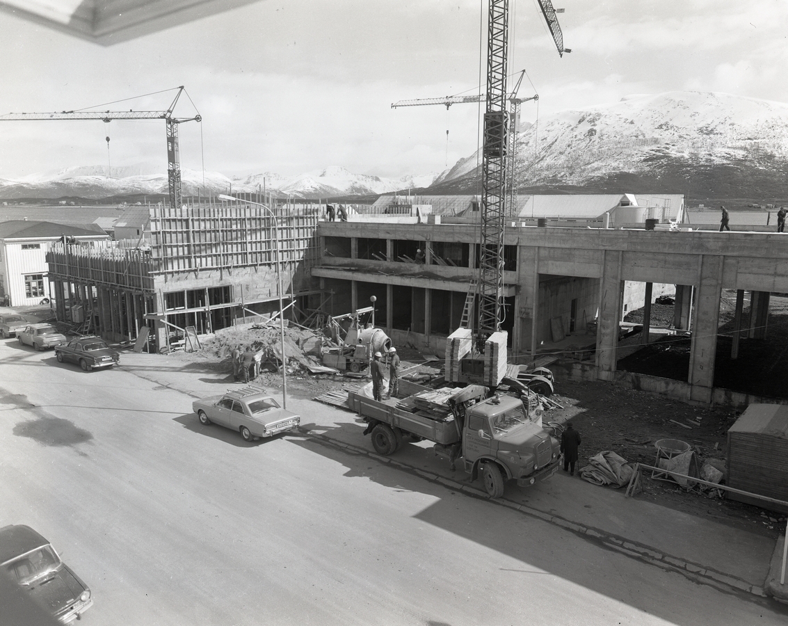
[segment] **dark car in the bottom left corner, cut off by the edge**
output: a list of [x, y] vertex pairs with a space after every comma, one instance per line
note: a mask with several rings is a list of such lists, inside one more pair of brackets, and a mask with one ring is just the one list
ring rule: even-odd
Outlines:
[[0, 568], [63, 624], [80, 619], [93, 606], [90, 588], [29, 526], [0, 528]]

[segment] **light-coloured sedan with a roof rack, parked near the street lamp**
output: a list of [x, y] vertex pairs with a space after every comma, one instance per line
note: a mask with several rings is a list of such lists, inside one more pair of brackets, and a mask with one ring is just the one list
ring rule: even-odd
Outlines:
[[299, 415], [281, 408], [266, 389], [253, 385], [195, 400], [191, 408], [203, 424], [237, 430], [247, 442], [292, 430], [301, 422]]

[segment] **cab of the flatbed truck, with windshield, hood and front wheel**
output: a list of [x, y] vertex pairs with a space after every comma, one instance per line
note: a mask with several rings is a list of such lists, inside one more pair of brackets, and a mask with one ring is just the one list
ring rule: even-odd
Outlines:
[[559, 467], [559, 442], [542, 428], [541, 411], [518, 397], [495, 394], [466, 408], [463, 462], [473, 479], [481, 472], [492, 497], [510, 479], [519, 486], [547, 479]]

